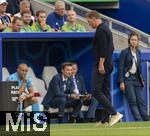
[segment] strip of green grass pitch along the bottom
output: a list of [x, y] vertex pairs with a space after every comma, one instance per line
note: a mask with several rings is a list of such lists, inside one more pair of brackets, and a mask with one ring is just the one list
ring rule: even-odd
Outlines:
[[118, 123], [112, 127], [94, 123], [51, 124], [50, 136], [150, 136], [150, 122]]

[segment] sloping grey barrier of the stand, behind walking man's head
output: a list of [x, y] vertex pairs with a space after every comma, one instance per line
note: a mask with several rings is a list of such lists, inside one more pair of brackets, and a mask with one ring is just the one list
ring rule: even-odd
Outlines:
[[[54, 9], [54, 2], [51, 2], [49, 4], [45, 4], [43, 2], [41, 2], [40, 0], [31, 0], [34, 2], [37, 2], [39, 4], [44, 4], [45, 6], [49, 6], [49, 8], [53, 7]], [[80, 5], [77, 5], [75, 3], [71, 3], [67, 0], [64, 0], [65, 4], [66, 4], [66, 9], [73, 9], [77, 12], [77, 15], [79, 16], [80, 20], [82, 20], [84, 23], [86, 22], [85, 19], [85, 15], [88, 11], [90, 11], [90, 9], [87, 9], [85, 7], [82, 7]], [[102, 20], [107, 23], [107, 25], [109, 26], [109, 28], [112, 30], [113, 33], [117, 34], [118, 36], [123, 36], [124, 38], [128, 38], [128, 34], [131, 31], [136, 31], [137, 33], [139, 33], [140, 35], [140, 46], [144, 47], [144, 48], [150, 48], [150, 35], [128, 25], [125, 24], [123, 22], [117, 21], [115, 19], [112, 19], [108, 16], [105, 16], [103, 14], [100, 14], [102, 17]]]

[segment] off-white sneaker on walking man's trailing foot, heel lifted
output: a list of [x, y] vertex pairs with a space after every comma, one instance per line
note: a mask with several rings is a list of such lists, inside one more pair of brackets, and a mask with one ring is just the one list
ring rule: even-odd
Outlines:
[[112, 115], [111, 119], [110, 119], [110, 122], [109, 122], [109, 125], [110, 126], [113, 126], [115, 125], [118, 121], [120, 121], [121, 119], [123, 118], [123, 115], [120, 114], [119, 112], [117, 112], [116, 115]]

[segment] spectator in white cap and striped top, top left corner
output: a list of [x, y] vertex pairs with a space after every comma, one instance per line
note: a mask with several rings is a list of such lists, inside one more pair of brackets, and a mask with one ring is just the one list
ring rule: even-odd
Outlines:
[[7, 1], [0, 0], [0, 32], [2, 32], [11, 23], [11, 18], [8, 13], [6, 13]]

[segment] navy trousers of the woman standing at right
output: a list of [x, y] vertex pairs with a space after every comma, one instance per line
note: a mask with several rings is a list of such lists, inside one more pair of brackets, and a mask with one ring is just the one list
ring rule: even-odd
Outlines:
[[135, 75], [125, 79], [125, 95], [135, 121], [147, 121], [149, 117], [146, 112], [142, 86]]

